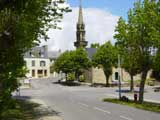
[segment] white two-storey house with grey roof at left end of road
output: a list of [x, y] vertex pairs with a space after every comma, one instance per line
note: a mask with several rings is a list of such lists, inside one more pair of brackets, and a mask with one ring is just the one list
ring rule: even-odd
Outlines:
[[48, 57], [48, 47], [34, 47], [25, 53], [24, 60], [29, 78], [48, 78], [50, 76], [50, 59]]

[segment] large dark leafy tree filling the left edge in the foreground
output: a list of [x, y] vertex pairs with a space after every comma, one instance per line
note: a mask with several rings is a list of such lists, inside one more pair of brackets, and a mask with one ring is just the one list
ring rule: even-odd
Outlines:
[[[63, 0], [1, 0], [0, 1], [0, 105], [10, 107], [11, 93], [17, 89], [17, 78], [24, 73], [24, 53], [47, 40], [49, 28], [69, 8]], [[60, 6], [61, 5], [61, 6]], [[52, 22], [53, 21], [53, 22]], [[1, 113], [1, 110], [0, 110]]]

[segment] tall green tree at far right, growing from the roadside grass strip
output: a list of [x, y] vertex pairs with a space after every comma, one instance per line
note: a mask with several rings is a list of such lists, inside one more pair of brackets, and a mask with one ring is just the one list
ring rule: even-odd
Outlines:
[[[117, 38], [118, 42], [126, 45], [126, 47], [133, 51], [134, 56], [136, 56], [135, 63], [138, 65], [139, 71], [141, 72], [139, 90], [140, 103], [143, 102], [147, 73], [152, 68], [152, 49], [157, 48], [160, 43], [160, 29], [157, 27], [159, 26], [159, 4], [160, 3], [156, 0], [144, 0], [143, 3], [137, 1], [128, 17], [126, 34], [124, 35], [118, 29], [116, 30], [115, 38]], [[134, 29], [131, 29], [130, 25], [132, 25]], [[131, 32], [133, 33], [131, 34]], [[134, 39], [131, 39], [128, 35], [134, 35]]]

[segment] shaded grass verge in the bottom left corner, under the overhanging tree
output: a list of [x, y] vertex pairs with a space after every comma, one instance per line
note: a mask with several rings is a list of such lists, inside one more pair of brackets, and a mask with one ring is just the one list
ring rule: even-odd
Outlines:
[[47, 116], [58, 116], [58, 112], [41, 104], [27, 100], [15, 100], [16, 107], [4, 110], [0, 120], [37, 120]]

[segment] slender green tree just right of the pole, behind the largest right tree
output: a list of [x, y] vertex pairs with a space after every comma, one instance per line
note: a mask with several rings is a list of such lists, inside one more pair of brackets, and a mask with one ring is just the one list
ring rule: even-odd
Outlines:
[[133, 44], [128, 44], [128, 41], [133, 41], [135, 39], [134, 32], [135, 28], [132, 24], [134, 19], [132, 16], [132, 10], [128, 12], [128, 24], [125, 23], [123, 18], [120, 18], [118, 21], [118, 26], [115, 31], [118, 31], [119, 34], [116, 34], [114, 38], [117, 39], [116, 47], [118, 48], [119, 54], [123, 58], [122, 67], [129, 73], [130, 75], [130, 91], [134, 91], [134, 75], [139, 73], [139, 66], [136, 63], [138, 59], [136, 56], [136, 50]]

